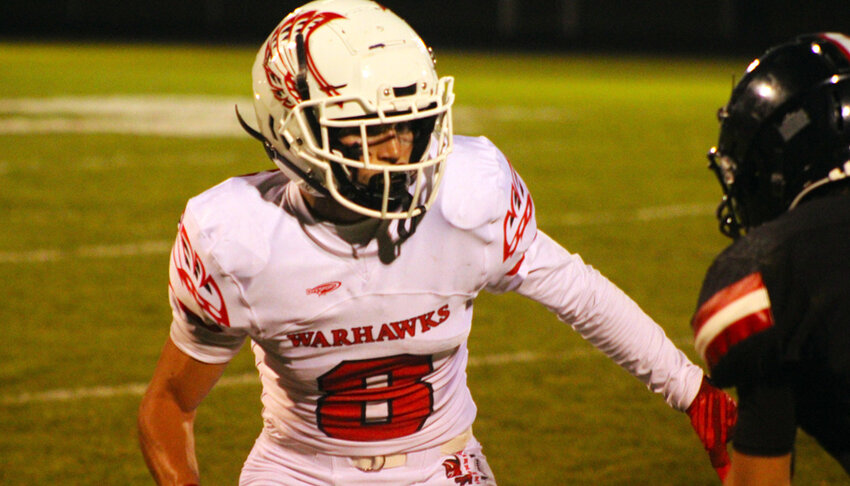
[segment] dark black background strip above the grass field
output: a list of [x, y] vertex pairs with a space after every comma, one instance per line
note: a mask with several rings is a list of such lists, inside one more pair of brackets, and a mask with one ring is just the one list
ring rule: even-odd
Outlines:
[[[386, 0], [435, 47], [760, 53], [850, 32], [850, 0]], [[285, 0], [2, 0], [0, 39], [257, 45]]]

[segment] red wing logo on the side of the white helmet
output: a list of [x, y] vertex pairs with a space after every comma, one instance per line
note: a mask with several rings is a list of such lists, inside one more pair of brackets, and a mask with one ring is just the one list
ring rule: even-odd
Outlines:
[[[309, 10], [301, 12], [297, 15], [292, 15], [284, 20], [284, 22], [272, 33], [268, 43], [266, 43], [265, 61], [263, 67], [266, 70], [266, 79], [269, 82], [274, 97], [280, 101], [286, 108], [292, 108], [299, 103], [301, 95], [298, 94], [298, 89], [295, 87], [295, 74], [298, 73], [298, 58], [295, 53], [295, 37], [301, 34], [304, 37], [304, 47], [307, 54], [307, 70], [313, 75], [319, 83], [319, 88], [328, 96], [339, 94], [337, 91], [341, 86], [331, 86], [319, 70], [316, 68], [316, 63], [310, 55], [309, 41], [310, 36], [319, 27], [327, 24], [331, 20], [345, 18], [340, 14], [333, 12], [319, 12]], [[275, 62], [279, 60], [285, 70], [280, 71], [276, 67]], [[273, 62], [275, 61], [275, 62]]]

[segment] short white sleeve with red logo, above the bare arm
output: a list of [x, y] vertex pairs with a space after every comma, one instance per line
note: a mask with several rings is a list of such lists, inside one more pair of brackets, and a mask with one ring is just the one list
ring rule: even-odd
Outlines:
[[215, 242], [187, 207], [178, 225], [169, 265], [174, 344], [204, 363], [226, 363], [250, 329], [250, 309], [238, 283], [219, 266]]

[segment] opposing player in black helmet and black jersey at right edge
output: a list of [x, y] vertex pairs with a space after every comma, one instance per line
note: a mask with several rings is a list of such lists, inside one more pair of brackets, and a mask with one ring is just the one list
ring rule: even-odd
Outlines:
[[797, 428], [850, 474], [850, 38], [753, 61], [709, 153], [721, 231], [692, 326], [739, 416], [726, 485], [790, 484]]

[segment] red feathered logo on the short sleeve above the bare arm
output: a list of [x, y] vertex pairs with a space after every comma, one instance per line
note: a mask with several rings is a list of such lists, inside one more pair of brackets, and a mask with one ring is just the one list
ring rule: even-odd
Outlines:
[[206, 316], [221, 326], [230, 327], [227, 307], [218, 284], [207, 273], [204, 262], [192, 248], [186, 228], [180, 225], [178, 241], [171, 251], [174, 268], [183, 288], [192, 296]]

